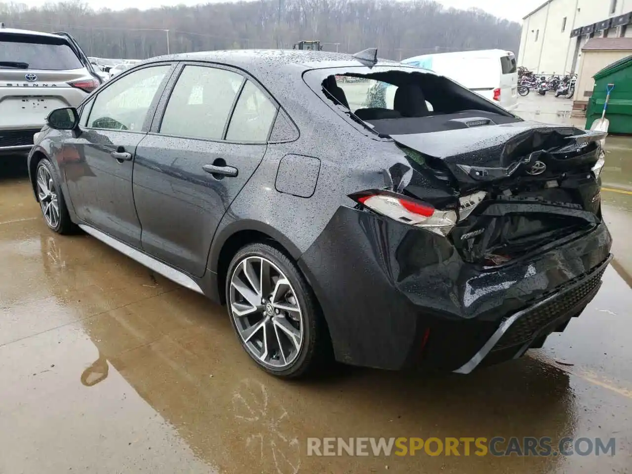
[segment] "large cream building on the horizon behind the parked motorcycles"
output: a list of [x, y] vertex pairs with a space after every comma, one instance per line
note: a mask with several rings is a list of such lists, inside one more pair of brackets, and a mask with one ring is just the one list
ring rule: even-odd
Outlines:
[[632, 37], [632, 0], [547, 0], [523, 18], [518, 65], [542, 74], [577, 72], [592, 38]]

